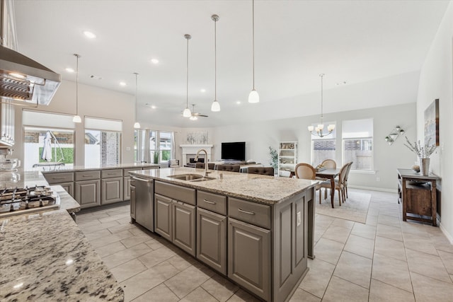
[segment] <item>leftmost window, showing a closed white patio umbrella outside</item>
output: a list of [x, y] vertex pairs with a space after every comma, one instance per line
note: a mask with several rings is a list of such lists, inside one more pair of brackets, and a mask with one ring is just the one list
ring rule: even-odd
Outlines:
[[71, 115], [23, 110], [23, 168], [74, 166], [74, 122]]

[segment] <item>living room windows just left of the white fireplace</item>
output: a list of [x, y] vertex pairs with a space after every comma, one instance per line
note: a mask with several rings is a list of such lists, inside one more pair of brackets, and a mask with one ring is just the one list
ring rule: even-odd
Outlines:
[[174, 157], [173, 132], [135, 130], [135, 161], [161, 163]]

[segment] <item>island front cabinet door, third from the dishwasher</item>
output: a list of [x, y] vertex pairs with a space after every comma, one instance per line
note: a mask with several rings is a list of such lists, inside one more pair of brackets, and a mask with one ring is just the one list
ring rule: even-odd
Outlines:
[[197, 208], [197, 258], [226, 274], [226, 217]]

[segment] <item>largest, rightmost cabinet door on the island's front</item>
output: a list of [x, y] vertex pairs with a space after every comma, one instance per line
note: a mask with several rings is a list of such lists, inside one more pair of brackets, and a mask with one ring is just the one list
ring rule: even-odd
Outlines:
[[228, 277], [270, 301], [270, 231], [228, 219]]

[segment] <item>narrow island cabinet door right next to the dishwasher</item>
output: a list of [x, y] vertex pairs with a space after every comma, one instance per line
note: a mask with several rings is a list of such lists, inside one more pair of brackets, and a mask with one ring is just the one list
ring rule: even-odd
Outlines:
[[171, 199], [159, 194], [154, 194], [154, 231], [173, 241]]

